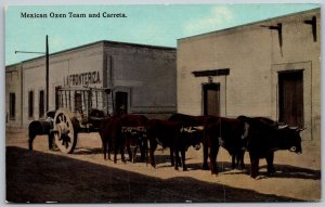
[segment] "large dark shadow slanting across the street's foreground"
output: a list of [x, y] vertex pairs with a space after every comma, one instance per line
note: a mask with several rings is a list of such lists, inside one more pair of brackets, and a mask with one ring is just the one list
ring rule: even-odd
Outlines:
[[20, 147], [6, 147], [5, 157], [10, 203], [299, 202], [188, 177], [164, 180]]

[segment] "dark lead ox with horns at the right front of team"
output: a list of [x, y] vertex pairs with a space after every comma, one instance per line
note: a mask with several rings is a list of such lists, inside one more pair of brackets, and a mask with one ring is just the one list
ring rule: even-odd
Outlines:
[[[249, 125], [247, 137], [247, 150], [250, 158], [250, 177], [259, 176], [259, 159], [265, 158], [268, 164], [268, 173], [273, 174], [275, 168], [273, 165], [274, 152], [277, 150], [289, 150], [297, 154], [302, 153], [301, 148], [301, 129], [289, 127], [276, 127], [265, 118], [249, 118], [239, 116], [238, 119]], [[271, 124], [271, 125], [270, 125]]]

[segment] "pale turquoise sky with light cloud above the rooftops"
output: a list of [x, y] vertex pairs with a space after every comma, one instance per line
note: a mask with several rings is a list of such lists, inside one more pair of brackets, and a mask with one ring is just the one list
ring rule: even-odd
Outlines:
[[[318, 8], [318, 4], [169, 4], [8, 7], [5, 65], [36, 57], [15, 50], [50, 53], [99, 40], [177, 47], [177, 39]], [[22, 12], [125, 13], [126, 18], [23, 18]]]

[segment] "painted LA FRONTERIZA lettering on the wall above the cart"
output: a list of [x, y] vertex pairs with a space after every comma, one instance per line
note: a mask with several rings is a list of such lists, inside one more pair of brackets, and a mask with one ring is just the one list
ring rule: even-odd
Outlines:
[[69, 87], [89, 86], [95, 83], [101, 83], [100, 72], [72, 74], [72, 75], [67, 75], [64, 78], [64, 86], [69, 86]]

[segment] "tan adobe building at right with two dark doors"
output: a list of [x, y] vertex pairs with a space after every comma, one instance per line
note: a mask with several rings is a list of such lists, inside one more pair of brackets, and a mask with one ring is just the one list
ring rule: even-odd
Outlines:
[[321, 9], [178, 40], [178, 112], [264, 116], [321, 139]]

